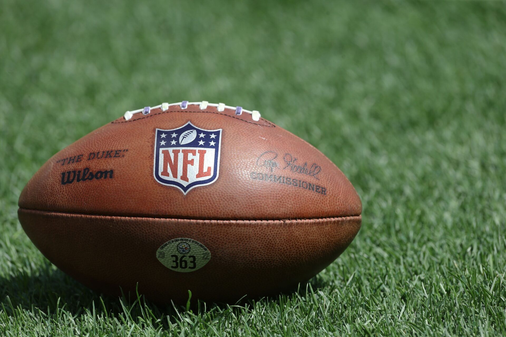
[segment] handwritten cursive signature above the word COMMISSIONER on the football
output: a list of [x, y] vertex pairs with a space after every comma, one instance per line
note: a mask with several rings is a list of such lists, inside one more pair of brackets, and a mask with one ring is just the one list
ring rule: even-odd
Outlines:
[[[257, 158], [257, 166], [265, 167], [271, 172], [273, 170], [281, 169], [277, 161], [277, 158], [278, 154], [274, 151], [264, 152]], [[299, 165], [297, 160], [298, 158], [296, 158], [295, 156], [286, 153], [283, 156], [284, 167], [282, 168], [282, 170], [289, 170], [294, 173], [309, 175], [317, 180], [320, 180], [317, 176], [321, 172], [320, 165], [316, 163], [309, 165], [308, 162], [304, 162], [304, 164]]]

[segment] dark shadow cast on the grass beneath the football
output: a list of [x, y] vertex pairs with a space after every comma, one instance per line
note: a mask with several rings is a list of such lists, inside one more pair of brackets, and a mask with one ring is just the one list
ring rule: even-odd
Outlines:
[[[180, 313], [191, 311], [195, 315], [208, 313], [218, 309], [223, 312], [230, 306], [252, 307], [260, 303], [285, 303], [286, 298], [306, 297], [307, 290], [317, 290], [327, 286], [321, 278], [314, 277], [308, 283], [300, 284], [291, 290], [264, 298], [244, 297], [236, 303], [213, 303], [196, 301], [192, 299], [191, 305], [181, 306], [173, 303], [160, 304], [146, 300], [137, 294], [124, 294], [121, 298], [107, 296], [90, 290], [79, 282], [67, 276], [61, 270], [54, 267], [49, 261], [38, 269], [36, 274], [20, 271], [10, 277], [0, 277], [0, 310], [10, 316], [15, 316], [16, 308], [33, 312], [39, 311], [51, 315], [57, 310], [66, 311], [72, 316], [95, 313], [97, 317], [102, 315], [145, 317], [146, 311], [150, 315], [161, 318], [166, 324], [165, 316], [174, 317], [180, 321]], [[239, 308], [240, 310], [240, 308]], [[174, 322], [173, 320], [173, 322]]]

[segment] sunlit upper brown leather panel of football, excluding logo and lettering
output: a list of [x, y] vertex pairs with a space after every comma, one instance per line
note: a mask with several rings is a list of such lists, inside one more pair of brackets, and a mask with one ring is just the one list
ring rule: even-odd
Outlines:
[[[193, 111], [192, 111], [193, 110]], [[188, 121], [203, 129], [223, 129], [218, 180], [185, 196], [153, 178], [156, 128], [173, 129]], [[114, 158], [117, 153], [118, 157]], [[122, 151], [128, 150], [128, 151]], [[112, 158], [87, 160], [110, 151]], [[277, 154], [277, 167], [260, 166], [265, 152]], [[283, 157], [321, 167], [316, 176], [291, 172]], [[67, 164], [66, 158], [80, 162]], [[122, 157], [124, 156], [124, 157]], [[274, 156], [274, 155], [273, 155]], [[269, 158], [269, 157], [265, 157]], [[63, 163], [63, 165], [62, 165]], [[89, 168], [113, 170], [113, 179], [61, 184], [61, 174]], [[254, 177], [251, 178], [251, 173]], [[258, 179], [258, 173], [302, 180], [325, 188], [325, 195], [286, 183]], [[219, 198], [217, 198], [220, 196]], [[345, 175], [321, 152], [299, 137], [249, 114], [189, 107], [151, 111], [107, 124], [54, 155], [21, 193], [19, 207], [101, 215], [161, 216], [189, 219], [305, 219], [360, 215], [360, 198]]]

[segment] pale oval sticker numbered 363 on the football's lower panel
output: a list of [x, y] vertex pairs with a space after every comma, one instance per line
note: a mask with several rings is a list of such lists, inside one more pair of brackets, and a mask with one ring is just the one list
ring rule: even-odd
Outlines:
[[205, 266], [211, 259], [211, 252], [194, 239], [178, 237], [161, 245], [156, 258], [170, 270], [188, 273]]

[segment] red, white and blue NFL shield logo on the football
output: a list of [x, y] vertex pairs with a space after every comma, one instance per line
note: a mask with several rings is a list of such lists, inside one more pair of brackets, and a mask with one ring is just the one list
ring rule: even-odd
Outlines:
[[220, 171], [222, 129], [204, 130], [191, 122], [171, 130], [156, 129], [153, 174], [160, 184], [184, 195], [212, 184]]

